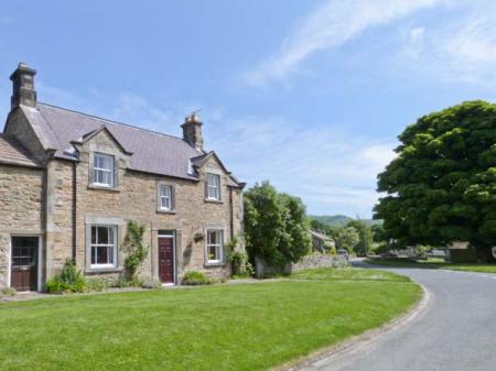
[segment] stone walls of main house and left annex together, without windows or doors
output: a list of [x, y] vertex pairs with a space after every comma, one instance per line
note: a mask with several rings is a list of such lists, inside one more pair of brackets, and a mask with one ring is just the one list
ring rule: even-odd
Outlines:
[[[224, 231], [224, 242], [242, 228], [242, 196], [239, 188], [228, 187], [228, 174], [212, 157], [198, 170], [200, 182], [159, 176], [128, 170], [128, 156], [118, 143], [101, 131], [80, 148], [80, 162], [50, 160], [45, 170], [15, 166], [0, 167], [0, 205], [6, 218], [0, 220], [0, 282], [7, 284], [10, 234], [15, 230], [44, 234], [43, 281], [61, 271], [66, 259], [75, 254], [77, 268], [88, 276], [115, 280], [122, 272], [125, 251], [121, 248], [127, 222], [145, 226], [144, 240], [150, 247], [140, 273], [158, 280], [159, 231], [175, 236], [175, 281], [187, 270], [203, 271], [214, 279], [230, 274], [230, 264], [206, 264], [205, 238], [211, 228]], [[98, 188], [90, 184], [91, 154], [97, 151], [118, 159], [115, 188]], [[205, 174], [222, 177], [220, 201], [205, 200]], [[46, 233], [43, 228], [43, 184], [46, 177]], [[174, 187], [175, 208], [163, 212], [158, 208], [158, 186]], [[21, 185], [21, 186], [19, 186]], [[91, 271], [88, 264], [88, 228], [94, 223], [118, 226], [117, 269]], [[3, 233], [1, 233], [3, 231]], [[195, 241], [196, 240], [196, 241]]]

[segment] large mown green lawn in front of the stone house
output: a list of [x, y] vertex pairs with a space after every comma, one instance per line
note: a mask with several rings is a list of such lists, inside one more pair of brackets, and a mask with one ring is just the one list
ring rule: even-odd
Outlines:
[[418, 285], [316, 270], [301, 281], [0, 304], [0, 370], [265, 370], [377, 327]]

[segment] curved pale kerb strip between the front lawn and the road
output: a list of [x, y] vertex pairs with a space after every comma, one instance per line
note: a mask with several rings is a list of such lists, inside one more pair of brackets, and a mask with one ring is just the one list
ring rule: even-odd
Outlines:
[[352, 337], [348, 340], [345, 340], [344, 342], [320, 349], [306, 357], [279, 365], [272, 369], [272, 371], [319, 370], [334, 357], [356, 351], [362, 347], [376, 341], [380, 336], [387, 332], [408, 326], [417, 317], [419, 317], [424, 313], [424, 309], [431, 303], [432, 297], [431, 293], [429, 292], [429, 290], [427, 290], [424, 285], [416, 281], [413, 282], [422, 288], [423, 294], [422, 298], [416, 305], [413, 305], [407, 313], [391, 319], [390, 321], [386, 323], [380, 327], [367, 330], [360, 335]]

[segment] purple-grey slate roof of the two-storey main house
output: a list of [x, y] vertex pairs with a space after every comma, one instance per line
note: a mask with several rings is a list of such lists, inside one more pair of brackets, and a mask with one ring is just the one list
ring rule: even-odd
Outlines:
[[[105, 127], [130, 156], [130, 168], [152, 174], [197, 179], [188, 174], [188, 161], [204, 156], [181, 138], [162, 134], [68, 109], [37, 103], [22, 107], [45, 149], [58, 159], [77, 160], [71, 142], [80, 141]], [[230, 184], [238, 185], [238, 184]]]

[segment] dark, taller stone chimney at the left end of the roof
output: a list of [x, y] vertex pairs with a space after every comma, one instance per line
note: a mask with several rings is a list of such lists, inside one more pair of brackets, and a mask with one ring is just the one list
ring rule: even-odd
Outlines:
[[34, 75], [36, 75], [36, 70], [28, 67], [24, 63], [20, 63], [18, 68], [10, 75], [12, 80], [11, 110], [14, 110], [19, 105], [36, 107]]

